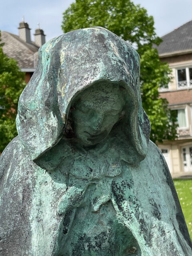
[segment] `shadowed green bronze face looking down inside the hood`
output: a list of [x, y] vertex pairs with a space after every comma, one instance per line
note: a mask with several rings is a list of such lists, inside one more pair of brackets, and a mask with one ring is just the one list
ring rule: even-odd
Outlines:
[[122, 116], [124, 98], [117, 84], [95, 84], [82, 92], [72, 110], [74, 132], [83, 145], [101, 142]]

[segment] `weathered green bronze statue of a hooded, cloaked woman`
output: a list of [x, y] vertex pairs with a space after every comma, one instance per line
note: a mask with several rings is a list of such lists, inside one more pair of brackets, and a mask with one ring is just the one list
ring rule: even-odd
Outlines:
[[139, 72], [134, 48], [100, 27], [40, 48], [0, 158], [2, 256], [192, 255]]

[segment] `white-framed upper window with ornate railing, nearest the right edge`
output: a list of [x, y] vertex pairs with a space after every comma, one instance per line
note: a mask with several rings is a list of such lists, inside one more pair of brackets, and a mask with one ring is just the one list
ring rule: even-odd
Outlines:
[[192, 87], [192, 68], [177, 70], [178, 88]]

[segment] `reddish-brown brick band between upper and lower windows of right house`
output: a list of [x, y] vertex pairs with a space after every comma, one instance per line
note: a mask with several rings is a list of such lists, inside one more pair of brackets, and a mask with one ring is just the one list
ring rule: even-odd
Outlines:
[[169, 105], [192, 103], [192, 90], [177, 90], [173, 92], [161, 92], [160, 98], [166, 98]]

